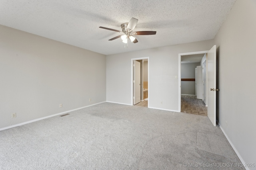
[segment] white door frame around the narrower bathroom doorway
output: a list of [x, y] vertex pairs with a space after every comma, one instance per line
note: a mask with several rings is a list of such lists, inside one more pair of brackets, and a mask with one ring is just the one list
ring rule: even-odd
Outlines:
[[[137, 60], [148, 60], [148, 89], [150, 89], [149, 88], [149, 85], [150, 85], [150, 83], [149, 83], [149, 57], [141, 57], [141, 58], [133, 58], [133, 59], [131, 59], [131, 105], [132, 106], [134, 106], [133, 105], [133, 96], [134, 96], [134, 87], [133, 87], [133, 79], [134, 79], [134, 72], [133, 72], [133, 61], [137, 61]], [[143, 85], [143, 84], [142, 84]], [[150, 100], [150, 92], [149, 92], [150, 90], [148, 90], [148, 107], [149, 107], [149, 100]]]

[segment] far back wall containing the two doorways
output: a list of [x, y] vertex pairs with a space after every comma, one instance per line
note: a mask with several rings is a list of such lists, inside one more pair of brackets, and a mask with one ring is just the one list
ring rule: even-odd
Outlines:
[[213, 40], [207, 40], [107, 55], [107, 101], [132, 105], [131, 59], [149, 57], [149, 107], [178, 111], [178, 54], [209, 50], [213, 45]]

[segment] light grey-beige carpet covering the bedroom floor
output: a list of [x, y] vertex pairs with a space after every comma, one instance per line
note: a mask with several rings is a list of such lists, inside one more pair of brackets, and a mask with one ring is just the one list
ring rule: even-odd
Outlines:
[[0, 131], [1, 170], [244, 169], [231, 164], [208, 117], [147, 107], [106, 102]]

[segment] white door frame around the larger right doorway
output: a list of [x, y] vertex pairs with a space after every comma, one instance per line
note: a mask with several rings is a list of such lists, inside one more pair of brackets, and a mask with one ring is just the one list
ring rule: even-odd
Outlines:
[[[209, 50], [207, 51], [196, 51], [196, 52], [189, 52], [189, 53], [179, 53], [178, 57], [178, 111], [181, 111], [181, 75], [180, 75], [180, 64], [181, 64], [181, 56], [183, 55], [194, 55], [194, 54], [205, 54], [208, 53]], [[207, 56], [206, 56], [207, 60]], [[207, 83], [206, 83], [207, 86]]]

